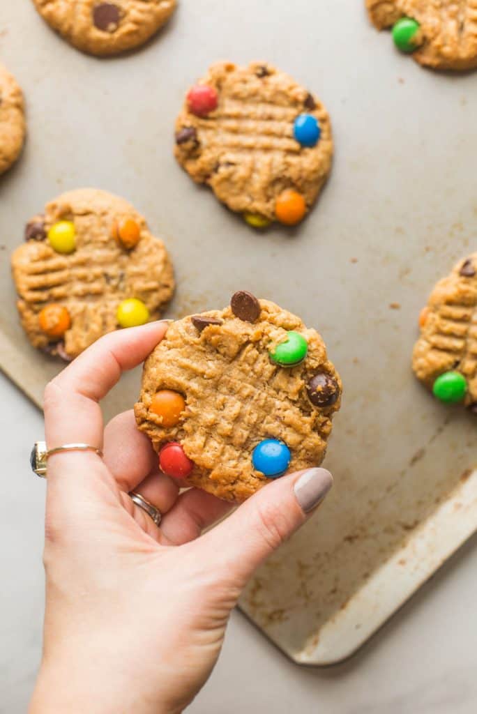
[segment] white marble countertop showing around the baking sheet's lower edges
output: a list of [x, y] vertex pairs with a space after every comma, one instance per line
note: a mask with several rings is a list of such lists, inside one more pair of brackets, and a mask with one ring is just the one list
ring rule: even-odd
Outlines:
[[[0, 374], [0, 714], [26, 710], [41, 647], [44, 483], [29, 470], [39, 411]], [[234, 613], [191, 714], [471, 714], [477, 701], [477, 538], [338, 667], [288, 662]]]

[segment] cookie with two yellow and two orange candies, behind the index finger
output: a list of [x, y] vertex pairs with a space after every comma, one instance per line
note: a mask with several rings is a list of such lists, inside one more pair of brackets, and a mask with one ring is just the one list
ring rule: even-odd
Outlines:
[[31, 218], [11, 265], [31, 344], [66, 360], [116, 328], [159, 319], [174, 292], [164, 243], [127, 201], [95, 188]]

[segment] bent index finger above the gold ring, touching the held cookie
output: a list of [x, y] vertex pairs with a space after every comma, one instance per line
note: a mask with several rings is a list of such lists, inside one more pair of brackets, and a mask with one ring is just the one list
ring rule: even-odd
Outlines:
[[101, 448], [103, 417], [99, 401], [123, 371], [139, 365], [161, 341], [167, 323], [111, 332], [81, 353], [47, 386], [45, 436], [49, 449], [83, 442]]

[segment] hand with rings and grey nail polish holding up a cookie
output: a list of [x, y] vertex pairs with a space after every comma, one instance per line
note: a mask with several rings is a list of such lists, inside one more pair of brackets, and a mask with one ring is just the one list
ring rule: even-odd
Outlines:
[[[159, 472], [132, 411], [103, 429], [99, 401], [161, 341], [165, 323], [111, 333], [45, 391], [49, 458], [44, 653], [31, 714], [181, 712], [209, 677], [243, 585], [331, 487], [322, 468], [230, 506]], [[161, 528], [129, 498], [141, 493]], [[199, 536], [201, 536], [199, 538]]]

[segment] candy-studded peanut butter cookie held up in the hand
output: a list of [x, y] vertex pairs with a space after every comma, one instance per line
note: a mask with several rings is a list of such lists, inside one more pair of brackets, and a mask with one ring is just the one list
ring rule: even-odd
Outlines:
[[164, 473], [240, 503], [284, 471], [318, 466], [340, 404], [321, 336], [240, 291], [224, 310], [169, 325], [134, 411]]

